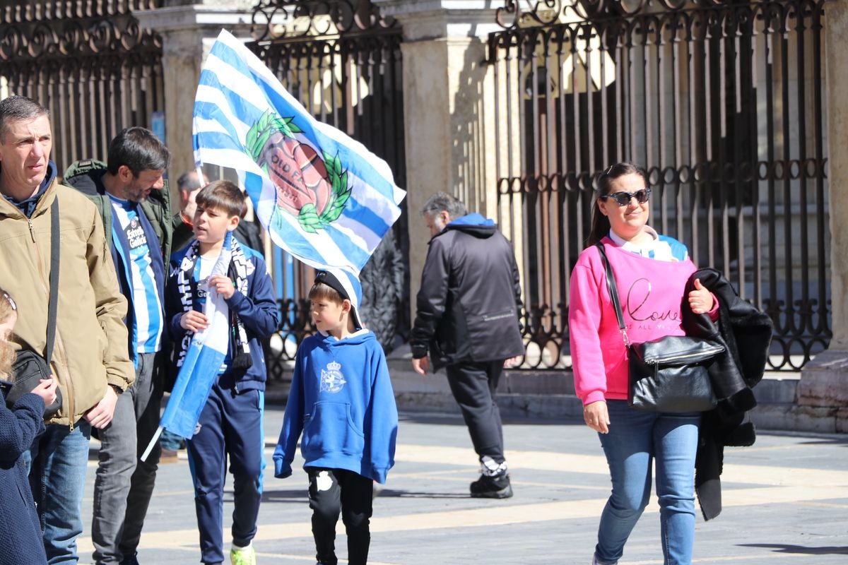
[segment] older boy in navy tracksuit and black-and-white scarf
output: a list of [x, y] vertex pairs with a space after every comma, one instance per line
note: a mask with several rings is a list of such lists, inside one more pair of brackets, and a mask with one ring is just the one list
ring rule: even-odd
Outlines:
[[[194, 435], [186, 440], [201, 561], [208, 565], [224, 562], [221, 524], [229, 457], [234, 506], [230, 561], [232, 565], [255, 565], [253, 539], [265, 468], [267, 371], [261, 340], [276, 331], [280, 313], [265, 259], [230, 235], [241, 217], [242, 191], [229, 180], [215, 180], [198, 192], [196, 201], [195, 237], [171, 256], [165, 313], [176, 365], [180, 366], [194, 332], [209, 328], [204, 315], [207, 300], [216, 300], [214, 293], [218, 293], [226, 303], [226, 356]], [[227, 264], [216, 267], [219, 262]], [[213, 341], [212, 335], [207, 335], [209, 341]]]

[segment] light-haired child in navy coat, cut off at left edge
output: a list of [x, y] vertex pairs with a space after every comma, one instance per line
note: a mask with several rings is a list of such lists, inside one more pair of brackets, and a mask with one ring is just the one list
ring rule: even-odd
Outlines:
[[[6, 381], [14, 360], [8, 335], [18, 319], [17, 305], [0, 289], [0, 379]], [[5, 384], [5, 383], [4, 383]], [[30, 490], [23, 457], [32, 440], [44, 431], [44, 407], [56, 399], [56, 380], [42, 380], [31, 393], [20, 396], [10, 410], [0, 386], [0, 562], [43, 565], [47, 554], [42, 543], [36, 502]]]

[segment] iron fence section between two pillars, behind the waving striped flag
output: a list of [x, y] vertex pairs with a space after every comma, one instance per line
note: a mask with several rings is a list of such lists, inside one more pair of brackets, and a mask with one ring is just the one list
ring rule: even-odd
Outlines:
[[[395, 182], [405, 186], [400, 26], [381, 18], [370, 0], [266, 0], [254, 7], [253, 23], [254, 42], [248, 47], [287, 91], [315, 118], [385, 159]], [[393, 229], [406, 258], [405, 209]], [[315, 272], [280, 250], [271, 263], [284, 296], [281, 328], [272, 341], [275, 354], [267, 356], [269, 374], [278, 378], [300, 341], [315, 331], [306, 298]], [[399, 308], [398, 316], [404, 332], [409, 314]]]

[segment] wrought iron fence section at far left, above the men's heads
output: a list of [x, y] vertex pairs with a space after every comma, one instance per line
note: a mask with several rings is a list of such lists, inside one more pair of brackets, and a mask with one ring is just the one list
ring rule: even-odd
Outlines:
[[31, 97], [50, 110], [59, 174], [81, 158], [105, 158], [131, 125], [164, 111], [162, 42], [132, 11], [161, 0], [0, 2], [0, 96]]

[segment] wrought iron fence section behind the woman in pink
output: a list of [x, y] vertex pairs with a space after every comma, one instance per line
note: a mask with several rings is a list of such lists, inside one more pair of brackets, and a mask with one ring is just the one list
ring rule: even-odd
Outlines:
[[831, 336], [822, 1], [506, 0], [489, 37], [501, 224], [527, 363], [568, 357], [568, 285], [600, 171], [650, 172], [651, 224], [775, 324], [771, 369]]

